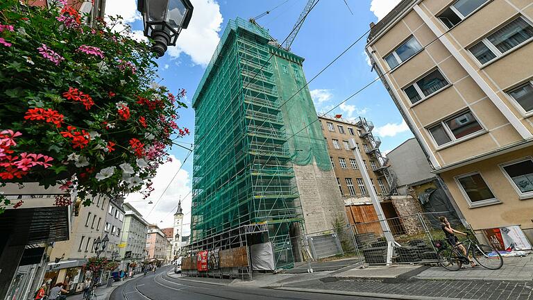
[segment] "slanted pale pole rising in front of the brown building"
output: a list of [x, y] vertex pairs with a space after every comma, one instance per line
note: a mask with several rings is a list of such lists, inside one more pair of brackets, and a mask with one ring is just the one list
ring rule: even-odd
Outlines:
[[378, 220], [381, 224], [381, 230], [383, 231], [383, 235], [387, 240], [387, 265], [389, 265], [392, 263], [392, 247], [394, 245], [394, 237], [392, 236], [391, 228], [389, 227], [389, 223], [387, 223], [387, 220], [385, 219], [383, 210], [381, 208], [380, 199], [378, 199], [378, 194], [376, 194], [375, 190], [372, 188], [369, 172], [366, 171], [366, 167], [364, 167], [363, 158], [361, 157], [361, 153], [359, 153], [359, 149], [357, 149], [357, 144], [355, 143], [355, 140], [353, 138], [350, 139], [350, 149], [352, 149], [353, 155], [355, 156], [355, 162], [357, 163], [357, 167], [359, 167], [359, 171], [361, 171], [361, 176], [363, 177], [364, 185], [368, 187], [366, 190], [368, 190], [369, 192], [372, 205], [374, 206], [375, 214], [378, 215]]

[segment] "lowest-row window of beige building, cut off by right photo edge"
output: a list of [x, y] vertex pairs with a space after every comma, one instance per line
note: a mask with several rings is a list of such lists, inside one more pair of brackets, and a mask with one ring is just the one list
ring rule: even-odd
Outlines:
[[502, 169], [522, 199], [533, 197], [533, 160], [531, 158], [507, 163], [502, 165]]

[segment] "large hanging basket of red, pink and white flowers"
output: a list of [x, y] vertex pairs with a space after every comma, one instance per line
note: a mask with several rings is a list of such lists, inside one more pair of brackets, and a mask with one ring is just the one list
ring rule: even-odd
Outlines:
[[172, 140], [189, 134], [176, 123], [185, 90], [154, 83], [150, 45], [115, 32], [119, 18], [86, 17], [0, 1], [0, 182], [75, 188], [85, 206], [89, 195], [148, 197]]

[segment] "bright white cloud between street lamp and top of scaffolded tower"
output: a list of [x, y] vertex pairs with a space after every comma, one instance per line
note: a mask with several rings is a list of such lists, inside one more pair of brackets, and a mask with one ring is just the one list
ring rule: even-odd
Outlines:
[[220, 6], [214, 0], [192, 0], [194, 11], [189, 26], [181, 31], [176, 47], [167, 52], [178, 58], [183, 52], [196, 65], [208, 65], [214, 49], [219, 44], [219, 31], [223, 21]]

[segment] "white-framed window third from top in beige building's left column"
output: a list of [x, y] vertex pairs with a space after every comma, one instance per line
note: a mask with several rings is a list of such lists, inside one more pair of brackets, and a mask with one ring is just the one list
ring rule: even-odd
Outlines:
[[455, 142], [482, 130], [483, 127], [469, 110], [428, 128], [428, 131], [430, 131], [439, 146], [448, 142]]

